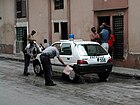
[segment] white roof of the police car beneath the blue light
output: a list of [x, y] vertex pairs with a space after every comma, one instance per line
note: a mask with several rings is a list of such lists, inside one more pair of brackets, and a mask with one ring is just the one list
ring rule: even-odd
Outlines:
[[74, 40], [60, 40], [55, 43], [75, 43], [75, 44], [99, 44], [97, 42], [92, 41], [84, 41], [82, 39], [74, 39]]

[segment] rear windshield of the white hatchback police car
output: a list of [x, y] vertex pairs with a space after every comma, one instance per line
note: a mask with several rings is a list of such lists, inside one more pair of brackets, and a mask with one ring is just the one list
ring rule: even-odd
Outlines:
[[108, 54], [100, 45], [97, 44], [79, 44], [77, 47], [80, 55], [83, 56], [99, 56]]

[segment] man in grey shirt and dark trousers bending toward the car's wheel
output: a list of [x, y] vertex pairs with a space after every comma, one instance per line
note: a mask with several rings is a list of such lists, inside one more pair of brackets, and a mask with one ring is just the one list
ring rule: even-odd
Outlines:
[[42, 54], [40, 55], [41, 64], [44, 71], [44, 77], [45, 77], [45, 85], [46, 86], [55, 86], [56, 84], [52, 80], [52, 64], [51, 64], [51, 58], [57, 57], [58, 60], [65, 65], [63, 60], [60, 58], [59, 51], [58, 51], [58, 45], [47, 47], [45, 50], [43, 50]]

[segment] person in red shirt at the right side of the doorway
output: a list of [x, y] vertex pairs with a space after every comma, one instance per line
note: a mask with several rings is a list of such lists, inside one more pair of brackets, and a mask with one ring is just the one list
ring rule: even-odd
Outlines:
[[114, 44], [115, 44], [115, 36], [111, 33], [110, 30], [110, 35], [108, 40], [108, 45], [109, 45], [108, 53], [110, 54], [111, 57], [114, 51]]

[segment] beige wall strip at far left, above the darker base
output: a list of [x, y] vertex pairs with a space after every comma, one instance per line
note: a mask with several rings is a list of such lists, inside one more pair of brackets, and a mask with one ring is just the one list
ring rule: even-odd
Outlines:
[[14, 0], [0, 0], [0, 43], [14, 44], [15, 40], [15, 10]]

